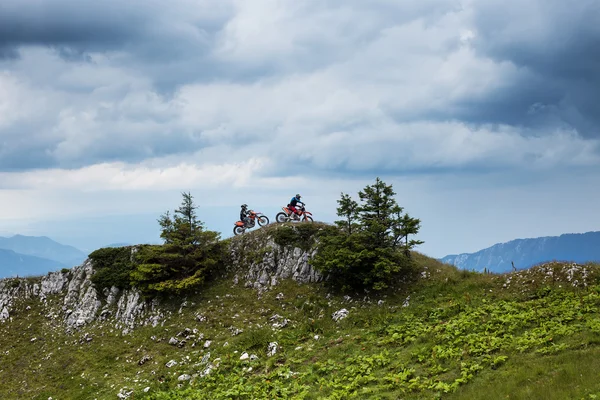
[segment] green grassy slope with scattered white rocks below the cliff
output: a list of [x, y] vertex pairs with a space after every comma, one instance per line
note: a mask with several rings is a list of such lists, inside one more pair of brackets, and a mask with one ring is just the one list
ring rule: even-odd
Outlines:
[[127, 335], [67, 335], [57, 299], [23, 300], [0, 325], [0, 398], [600, 398], [599, 266], [487, 275], [416, 256], [420, 281], [385, 295], [227, 279]]

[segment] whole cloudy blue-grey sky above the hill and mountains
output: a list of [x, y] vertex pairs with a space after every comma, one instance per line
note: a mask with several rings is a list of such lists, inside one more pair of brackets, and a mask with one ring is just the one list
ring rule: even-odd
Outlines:
[[2, 0], [0, 235], [231, 235], [380, 177], [417, 250], [600, 230], [600, 2]]

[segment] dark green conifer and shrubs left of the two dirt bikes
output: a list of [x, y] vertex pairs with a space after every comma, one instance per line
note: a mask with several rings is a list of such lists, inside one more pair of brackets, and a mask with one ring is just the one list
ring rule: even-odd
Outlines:
[[174, 217], [167, 211], [158, 220], [163, 245], [103, 248], [90, 254], [96, 288], [136, 287], [150, 296], [182, 294], [223, 267], [226, 243], [217, 232], [204, 229], [192, 195], [182, 196]]

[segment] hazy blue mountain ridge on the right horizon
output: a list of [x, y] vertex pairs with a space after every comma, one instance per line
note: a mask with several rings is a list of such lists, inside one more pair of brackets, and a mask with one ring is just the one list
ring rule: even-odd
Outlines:
[[585, 263], [600, 261], [600, 232], [568, 233], [498, 243], [475, 253], [448, 255], [440, 259], [461, 269], [508, 272], [526, 269], [546, 261]]

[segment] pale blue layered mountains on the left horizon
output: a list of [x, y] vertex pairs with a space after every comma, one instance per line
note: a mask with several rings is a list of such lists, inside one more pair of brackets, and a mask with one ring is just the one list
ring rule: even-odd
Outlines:
[[0, 278], [41, 275], [80, 265], [87, 254], [45, 236], [0, 237]]

